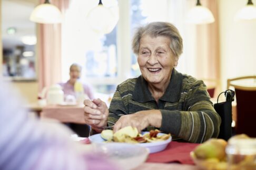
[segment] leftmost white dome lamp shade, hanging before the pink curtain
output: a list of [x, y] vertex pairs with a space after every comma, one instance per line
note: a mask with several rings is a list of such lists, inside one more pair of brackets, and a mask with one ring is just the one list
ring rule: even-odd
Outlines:
[[62, 22], [62, 14], [56, 6], [44, 3], [35, 7], [29, 19], [41, 24], [55, 24]]

